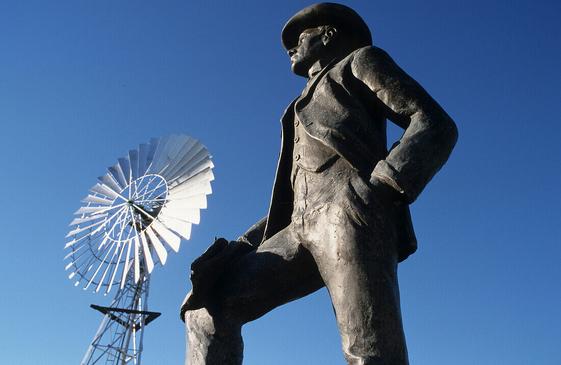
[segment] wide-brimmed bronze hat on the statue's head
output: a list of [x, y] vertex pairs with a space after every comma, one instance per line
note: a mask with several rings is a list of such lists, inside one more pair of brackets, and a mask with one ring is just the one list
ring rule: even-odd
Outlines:
[[302, 31], [331, 25], [352, 42], [355, 49], [372, 45], [370, 29], [350, 7], [335, 3], [318, 3], [297, 12], [284, 26], [280, 40], [286, 50], [298, 45]]

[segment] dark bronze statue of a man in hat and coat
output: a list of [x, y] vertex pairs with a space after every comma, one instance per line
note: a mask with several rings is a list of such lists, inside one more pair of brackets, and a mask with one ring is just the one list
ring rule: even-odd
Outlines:
[[[188, 364], [240, 364], [241, 327], [327, 287], [349, 364], [406, 364], [397, 264], [417, 248], [408, 205], [456, 144], [452, 119], [350, 8], [296, 13], [282, 43], [308, 79], [284, 112], [268, 216], [191, 266]], [[404, 129], [388, 151], [386, 121]]]

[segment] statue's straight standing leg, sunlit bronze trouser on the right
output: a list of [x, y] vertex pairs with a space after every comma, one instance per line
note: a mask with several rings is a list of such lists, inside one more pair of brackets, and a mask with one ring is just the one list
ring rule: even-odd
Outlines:
[[333, 302], [344, 356], [348, 364], [407, 364], [392, 218], [375, 199], [343, 198], [311, 217], [304, 233]]

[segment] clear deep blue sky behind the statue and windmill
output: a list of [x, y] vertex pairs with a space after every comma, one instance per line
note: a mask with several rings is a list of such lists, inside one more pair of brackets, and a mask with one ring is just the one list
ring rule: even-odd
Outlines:
[[[301, 93], [280, 30], [314, 1], [0, 3], [0, 364], [77, 364], [107, 297], [68, 280], [73, 212], [150, 137], [201, 140], [213, 194], [151, 276], [143, 364], [181, 364], [190, 263], [268, 211], [279, 118]], [[343, 1], [456, 121], [399, 265], [412, 364], [553, 364], [559, 311], [561, 3]], [[401, 136], [390, 128], [390, 144]], [[245, 364], [342, 364], [327, 290], [243, 327]]]

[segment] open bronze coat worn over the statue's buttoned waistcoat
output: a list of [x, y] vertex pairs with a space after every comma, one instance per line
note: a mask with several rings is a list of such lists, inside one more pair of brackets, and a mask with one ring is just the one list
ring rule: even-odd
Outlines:
[[[360, 48], [332, 61], [288, 106], [280, 119], [282, 146], [269, 215], [241, 239], [258, 245], [291, 222], [295, 117], [310, 137], [346, 159], [365, 181], [374, 176], [398, 192], [401, 205], [394, 221], [398, 261], [415, 252], [408, 204], [448, 159], [458, 132], [440, 105], [376, 47]], [[387, 119], [404, 128], [389, 151]]]

